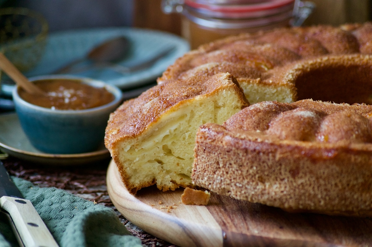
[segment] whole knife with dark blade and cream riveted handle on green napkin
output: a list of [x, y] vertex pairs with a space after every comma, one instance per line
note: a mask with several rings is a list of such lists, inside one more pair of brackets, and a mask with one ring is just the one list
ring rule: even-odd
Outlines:
[[58, 247], [31, 201], [22, 197], [0, 161], [0, 207], [12, 217], [25, 247]]

